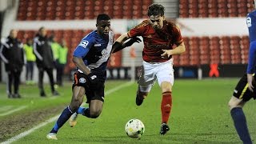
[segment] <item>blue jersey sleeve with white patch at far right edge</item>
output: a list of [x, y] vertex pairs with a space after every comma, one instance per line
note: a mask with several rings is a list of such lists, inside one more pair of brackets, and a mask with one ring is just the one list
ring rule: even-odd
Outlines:
[[250, 37], [250, 50], [247, 74], [254, 74], [256, 66], [256, 10], [250, 12], [247, 15], [246, 24], [249, 30]]

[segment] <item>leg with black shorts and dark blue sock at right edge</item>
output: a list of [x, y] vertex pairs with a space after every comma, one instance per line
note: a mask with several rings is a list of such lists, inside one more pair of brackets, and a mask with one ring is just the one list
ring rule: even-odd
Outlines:
[[242, 107], [253, 97], [253, 95], [254, 94], [248, 90], [247, 77], [245, 74], [235, 87], [234, 94], [228, 103], [231, 118], [234, 121], [234, 127], [243, 143], [252, 143], [246, 124], [246, 116]]

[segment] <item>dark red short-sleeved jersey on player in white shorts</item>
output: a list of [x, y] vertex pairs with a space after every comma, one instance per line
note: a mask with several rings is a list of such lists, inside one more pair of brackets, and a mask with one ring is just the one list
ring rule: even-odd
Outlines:
[[162, 50], [171, 50], [173, 45], [183, 42], [182, 34], [173, 22], [164, 20], [161, 30], [154, 30], [150, 20], [145, 20], [128, 31], [129, 38], [142, 36], [144, 48], [142, 58], [146, 62], [166, 62], [170, 58], [162, 58]]

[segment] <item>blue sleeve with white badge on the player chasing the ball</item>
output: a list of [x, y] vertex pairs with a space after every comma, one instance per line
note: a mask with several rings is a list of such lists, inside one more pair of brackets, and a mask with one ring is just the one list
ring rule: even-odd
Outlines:
[[94, 38], [83, 38], [79, 45], [74, 50], [74, 57], [83, 58], [86, 56], [90, 47], [94, 45]]

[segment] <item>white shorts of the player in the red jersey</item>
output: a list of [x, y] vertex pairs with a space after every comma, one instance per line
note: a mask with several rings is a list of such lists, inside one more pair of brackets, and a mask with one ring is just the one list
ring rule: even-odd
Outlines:
[[142, 62], [141, 74], [138, 79], [138, 87], [142, 92], [150, 92], [156, 80], [161, 86], [162, 82], [170, 82], [174, 85], [173, 59], [166, 62]]

